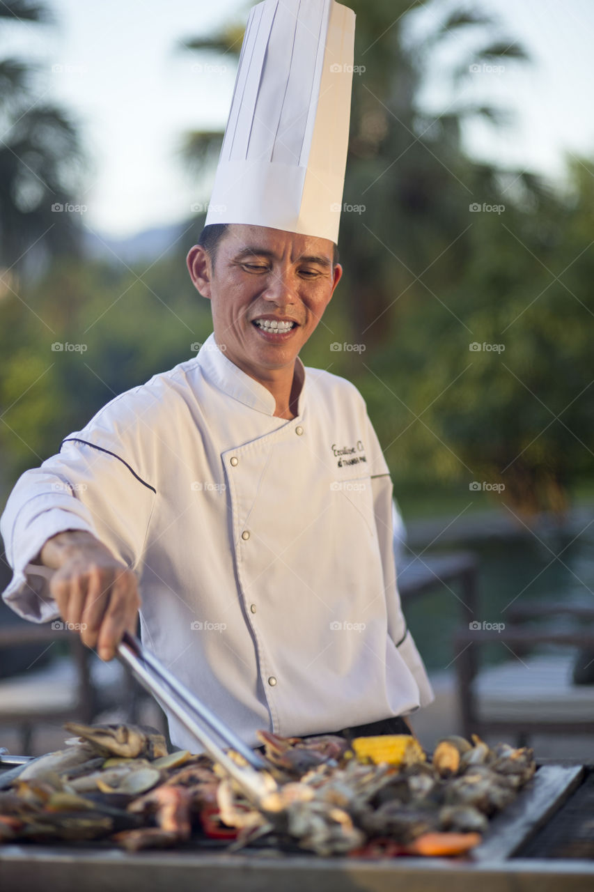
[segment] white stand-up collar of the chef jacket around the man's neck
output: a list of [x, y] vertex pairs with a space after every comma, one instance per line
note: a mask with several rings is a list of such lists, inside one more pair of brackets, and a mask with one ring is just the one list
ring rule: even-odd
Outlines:
[[[260, 384], [254, 378], [246, 375], [241, 368], [237, 368], [235, 363], [227, 359], [225, 353], [219, 349], [214, 333], [209, 335], [202, 344], [197, 364], [202, 368], [203, 374], [209, 381], [219, 387], [219, 390], [227, 393], [227, 396], [243, 402], [244, 406], [262, 412], [264, 415], [274, 416], [276, 401], [272, 393], [267, 390], [264, 384]], [[297, 401], [299, 417], [303, 414], [306, 387], [305, 367], [299, 357], [297, 357], [297, 366], [302, 378], [301, 392]]]

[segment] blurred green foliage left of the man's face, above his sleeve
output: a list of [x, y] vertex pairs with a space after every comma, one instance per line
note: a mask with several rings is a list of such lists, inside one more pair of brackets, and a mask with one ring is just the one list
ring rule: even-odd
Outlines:
[[62, 260], [21, 287], [21, 299], [0, 300], [5, 485], [112, 397], [189, 359], [210, 333], [210, 307], [183, 259], [162, 260], [143, 277], [145, 267]]

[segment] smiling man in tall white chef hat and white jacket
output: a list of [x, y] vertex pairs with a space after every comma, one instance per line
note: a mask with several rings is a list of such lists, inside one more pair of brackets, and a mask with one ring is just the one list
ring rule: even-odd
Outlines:
[[353, 39], [333, 0], [252, 9], [187, 257], [213, 334], [22, 475], [1, 523], [17, 613], [110, 659], [140, 609], [148, 648], [251, 746], [406, 730], [433, 699], [365, 402], [299, 358], [342, 277]]

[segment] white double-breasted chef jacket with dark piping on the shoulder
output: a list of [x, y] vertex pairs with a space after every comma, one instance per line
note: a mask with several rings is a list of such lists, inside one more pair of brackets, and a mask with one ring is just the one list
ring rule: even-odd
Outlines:
[[[31, 561], [55, 533], [93, 533], [137, 574], [144, 643], [250, 746], [258, 729], [338, 731], [433, 699], [400, 609], [392, 482], [365, 402], [301, 370], [297, 417], [275, 417], [210, 335], [22, 475], [0, 522], [17, 613], [58, 615]], [[195, 751], [170, 715], [169, 728]]]

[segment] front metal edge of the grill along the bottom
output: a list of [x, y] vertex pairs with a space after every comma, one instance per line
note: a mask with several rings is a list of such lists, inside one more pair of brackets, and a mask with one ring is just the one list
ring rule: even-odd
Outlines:
[[259, 854], [197, 855], [182, 852], [59, 851], [5, 846], [0, 885], [7, 890], [115, 892], [142, 883], [143, 892], [584, 892], [594, 885], [594, 862], [512, 859], [461, 863], [446, 859], [266, 858]]

